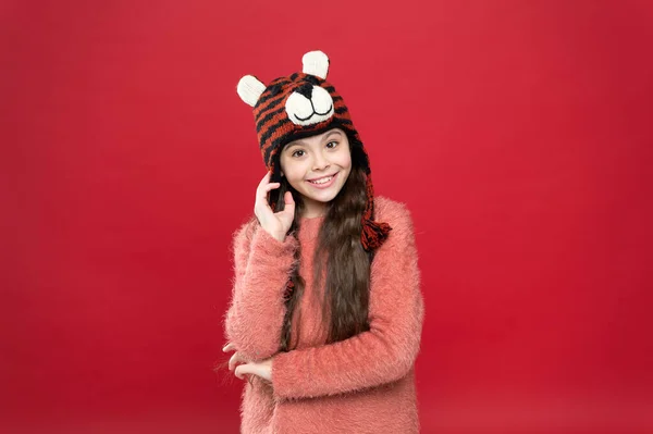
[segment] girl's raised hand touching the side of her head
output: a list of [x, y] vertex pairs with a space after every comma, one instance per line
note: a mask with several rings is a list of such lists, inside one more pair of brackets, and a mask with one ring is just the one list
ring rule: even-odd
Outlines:
[[272, 237], [280, 241], [285, 239], [285, 235], [295, 219], [295, 200], [293, 194], [286, 191], [283, 200], [285, 208], [283, 211], [273, 212], [268, 203], [268, 193], [281, 186], [280, 183], [270, 183], [271, 172], [268, 171], [256, 189], [256, 201], [254, 203], [254, 213], [256, 214], [261, 227]]

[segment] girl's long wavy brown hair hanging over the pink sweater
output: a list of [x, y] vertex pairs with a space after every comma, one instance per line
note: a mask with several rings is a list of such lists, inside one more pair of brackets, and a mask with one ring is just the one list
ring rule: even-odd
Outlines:
[[[360, 243], [362, 231], [361, 218], [367, 204], [366, 171], [360, 164], [366, 158], [361, 145], [349, 138], [352, 153], [352, 171], [337, 196], [328, 204], [326, 215], [318, 234], [313, 256], [315, 287], [324, 287], [322, 294], [322, 323], [328, 330], [326, 344], [344, 340], [369, 330], [369, 286], [370, 264], [372, 253], [368, 253]], [[299, 230], [299, 216], [305, 210], [301, 195], [291, 186], [285, 177], [281, 177], [280, 188], [271, 191], [270, 201], [275, 203], [275, 210], [284, 208], [284, 194], [293, 193], [296, 202], [295, 219], [287, 236], [295, 236]], [[295, 259], [301, 258], [300, 247], [295, 252]], [[326, 268], [324, 286], [321, 285], [322, 272]], [[292, 280], [294, 290], [286, 299], [286, 313], [281, 333], [281, 351], [289, 351], [297, 346], [291, 343], [292, 322], [304, 295], [306, 282], [295, 268]], [[318, 295], [319, 296], [319, 295]], [[297, 328], [298, 330], [298, 328]], [[295, 336], [298, 338], [298, 333]]]

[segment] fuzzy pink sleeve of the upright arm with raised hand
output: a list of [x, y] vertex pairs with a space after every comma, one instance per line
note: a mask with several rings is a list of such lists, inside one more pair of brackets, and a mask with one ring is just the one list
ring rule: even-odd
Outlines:
[[247, 360], [267, 359], [279, 351], [286, 309], [283, 293], [296, 266], [297, 244], [293, 236], [279, 241], [258, 221], [234, 234], [234, 280], [224, 331]]

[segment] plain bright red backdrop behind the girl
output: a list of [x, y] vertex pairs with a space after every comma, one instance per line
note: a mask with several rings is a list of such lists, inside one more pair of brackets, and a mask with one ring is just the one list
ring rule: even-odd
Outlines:
[[653, 432], [649, 1], [3, 1], [0, 431], [235, 433], [241, 76], [331, 58], [412, 211], [424, 433]]

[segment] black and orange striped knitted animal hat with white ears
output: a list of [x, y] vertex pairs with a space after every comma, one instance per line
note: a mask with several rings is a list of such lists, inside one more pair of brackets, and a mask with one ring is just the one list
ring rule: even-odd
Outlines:
[[367, 206], [360, 240], [365, 250], [371, 251], [383, 244], [391, 227], [372, 220], [374, 189], [367, 152], [343, 98], [325, 79], [329, 71], [326, 54], [311, 51], [304, 54], [301, 61], [301, 72], [275, 78], [268, 86], [252, 75], [245, 75], [238, 83], [237, 92], [243, 101], [254, 107], [261, 154], [266, 166], [272, 171], [271, 179], [280, 178], [279, 154], [285, 144], [331, 128], [341, 128], [347, 134], [352, 158], [367, 175]]

